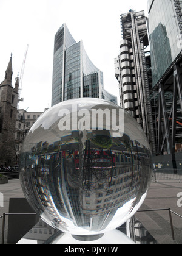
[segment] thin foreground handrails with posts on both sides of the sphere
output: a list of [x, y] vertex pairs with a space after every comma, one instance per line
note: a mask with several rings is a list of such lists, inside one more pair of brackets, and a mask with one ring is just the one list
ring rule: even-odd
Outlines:
[[[172, 233], [172, 239], [173, 239], [173, 241], [175, 241], [174, 225], [173, 225], [173, 221], [172, 221], [172, 213], [182, 219], [181, 215], [179, 215], [178, 213], [175, 213], [170, 208], [138, 210], [138, 212], [158, 212], [158, 211], [168, 211], [169, 212], [169, 220], [170, 220], [170, 228], [171, 228], [171, 233]], [[6, 215], [36, 215], [36, 213], [3, 213], [3, 215], [0, 216], [0, 219], [2, 218], [2, 239], [1, 239], [2, 244], [4, 244], [5, 216]]]

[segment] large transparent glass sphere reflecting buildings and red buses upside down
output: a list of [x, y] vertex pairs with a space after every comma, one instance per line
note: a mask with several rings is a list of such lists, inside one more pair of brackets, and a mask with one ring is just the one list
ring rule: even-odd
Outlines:
[[152, 174], [150, 146], [135, 119], [92, 98], [41, 115], [19, 167], [27, 201], [47, 224], [72, 235], [121, 226], [143, 203]]

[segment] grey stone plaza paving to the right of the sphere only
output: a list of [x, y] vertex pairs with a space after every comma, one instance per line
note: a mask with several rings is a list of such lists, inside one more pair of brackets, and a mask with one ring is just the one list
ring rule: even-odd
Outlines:
[[[152, 182], [149, 193], [140, 210], [171, 208], [182, 216], [182, 207], [178, 207], [178, 193], [182, 185], [178, 181]], [[160, 244], [182, 244], [182, 219], [172, 214], [175, 242], [172, 240], [169, 211], [138, 212], [136, 218]]]

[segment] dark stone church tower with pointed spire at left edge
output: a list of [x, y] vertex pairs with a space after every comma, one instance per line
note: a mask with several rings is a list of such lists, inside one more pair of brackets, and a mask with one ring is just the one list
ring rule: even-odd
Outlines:
[[18, 105], [19, 79], [12, 87], [12, 55], [0, 84], [0, 165], [15, 166], [15, 126]]

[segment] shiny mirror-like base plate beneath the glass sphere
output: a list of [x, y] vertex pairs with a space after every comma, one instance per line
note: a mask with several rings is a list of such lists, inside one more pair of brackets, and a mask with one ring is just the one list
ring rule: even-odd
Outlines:
[[[80, 238], [80, 237], [79, 237]], [[96, 240], [76, 240], [75, 236], [53, 229], [44, 221], [39, 221], [29, 233], [27, 233], [18, 244], [156, 244], [157, 241], [150, 235], [138, 219], [133, 216], [129, 221], [118, 229], [105, 233]]]

